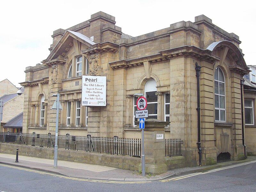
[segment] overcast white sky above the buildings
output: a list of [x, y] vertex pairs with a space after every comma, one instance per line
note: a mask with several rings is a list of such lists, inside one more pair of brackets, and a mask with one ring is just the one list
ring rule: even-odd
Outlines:
[[20, 86], [24, 70], [50, 54], [54, 30], [72, 27], [102, 11], [116, 17], [116, 26], [139, 36], [204, 14], [212, 23], [239, 36], [247, 65], [255, 65], [256, 13], [252, 1], [2, 1], [0, 11], [0, 81]]

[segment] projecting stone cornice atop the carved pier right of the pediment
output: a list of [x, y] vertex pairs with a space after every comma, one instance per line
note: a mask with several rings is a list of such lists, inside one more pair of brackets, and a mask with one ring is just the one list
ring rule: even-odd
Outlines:
[[82, 54], [92, 55], [97, 53], [111, 52], [116, 53], [119, 49], [119, 45], [111, 42], [97, 43], [93, 45], [93, 48], [81, 51]]

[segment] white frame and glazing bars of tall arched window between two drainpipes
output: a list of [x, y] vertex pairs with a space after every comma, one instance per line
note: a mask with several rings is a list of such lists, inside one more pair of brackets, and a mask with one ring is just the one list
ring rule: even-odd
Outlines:
[[[226, 122], [227, 121], [227, 117], [226, 117], [226, 83], [225, 83], [225, 75], [224, 75], [224, 73], [223, 73], [223, 71], [221, 70], [221, 68], [219, 68], [219, 67], [217, 67], [218, 68], [218, 79], [219, 80], [215, 80], [215, 78], [214, 78], [214, 101], [215, 101], [215, 95], [218, 95], [218, 97], [219, 97], [219, 106], [220, 106], [220, 96], [224, 96], [224, 104], [225, 104], [225, 108], [216, 108], [215, 107], [215, 103], [214, 103], [214, 107], [215, 107], [215, 109], [216, 110], [219, 110], [219, 120], [216, 120], [215, 119], [215, 121], [216, 122]], [[217, 69], [216, 68], [216, 69]], [[215, 69], [215, 71], [216, 71], [216, 69]], [[223, 74], [223, 77], [224, 77], [224, 82], [223, 81], [220, 81], [220, 75], [219, 75], [219, 70], [222, 72], [222, 74]], [[218, 82], [218, 91], [219, 91], [219, 94], [217, 94], [217, 93], [215, 93], [215, 81], [217, 81]], [[225, 95], [221, 95], [220, 94], [220, 83], [224, 83], [224, 94]], [[221, 121], [220, 120], [220, 110], [222, 110], [222, 111], [225, 111], [225, 121]], [[215, 114], [215, 110], [214, 110], [214, 114]], [[215, 117], [216, 118], [216, 117]]]

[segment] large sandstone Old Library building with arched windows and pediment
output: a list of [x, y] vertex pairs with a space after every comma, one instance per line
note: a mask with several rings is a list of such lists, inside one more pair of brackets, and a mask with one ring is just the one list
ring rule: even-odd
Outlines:
[[[140, 138], [134, 94], [142, 93], [149, 118], [171, 122], [165, 138], [183, 140], [186, 166], [198, 164], [198, 126], [202, 164], [215, 164], [224, 156], [243, 159], [240, 81], [249, 69], [239, 37], [204, 15], [137, 37], [124, 34], [115, 23], [115, 17], [98, 12], [53, 31], [49, 56], [27, 67], [21, 83], [23, 132], [55, 132], [52, 94], [59, 92], [59, 134]], [[82, 75], [107, 77], [106, 107], [81, 106]]]

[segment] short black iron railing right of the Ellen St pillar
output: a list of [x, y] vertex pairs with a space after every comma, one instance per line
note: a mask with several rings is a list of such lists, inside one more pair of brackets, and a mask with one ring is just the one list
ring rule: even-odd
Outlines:
[[181, 144], [183, 141], [181, 139], [165, 139], [165, 156], [182, 155], [181, 154]]

